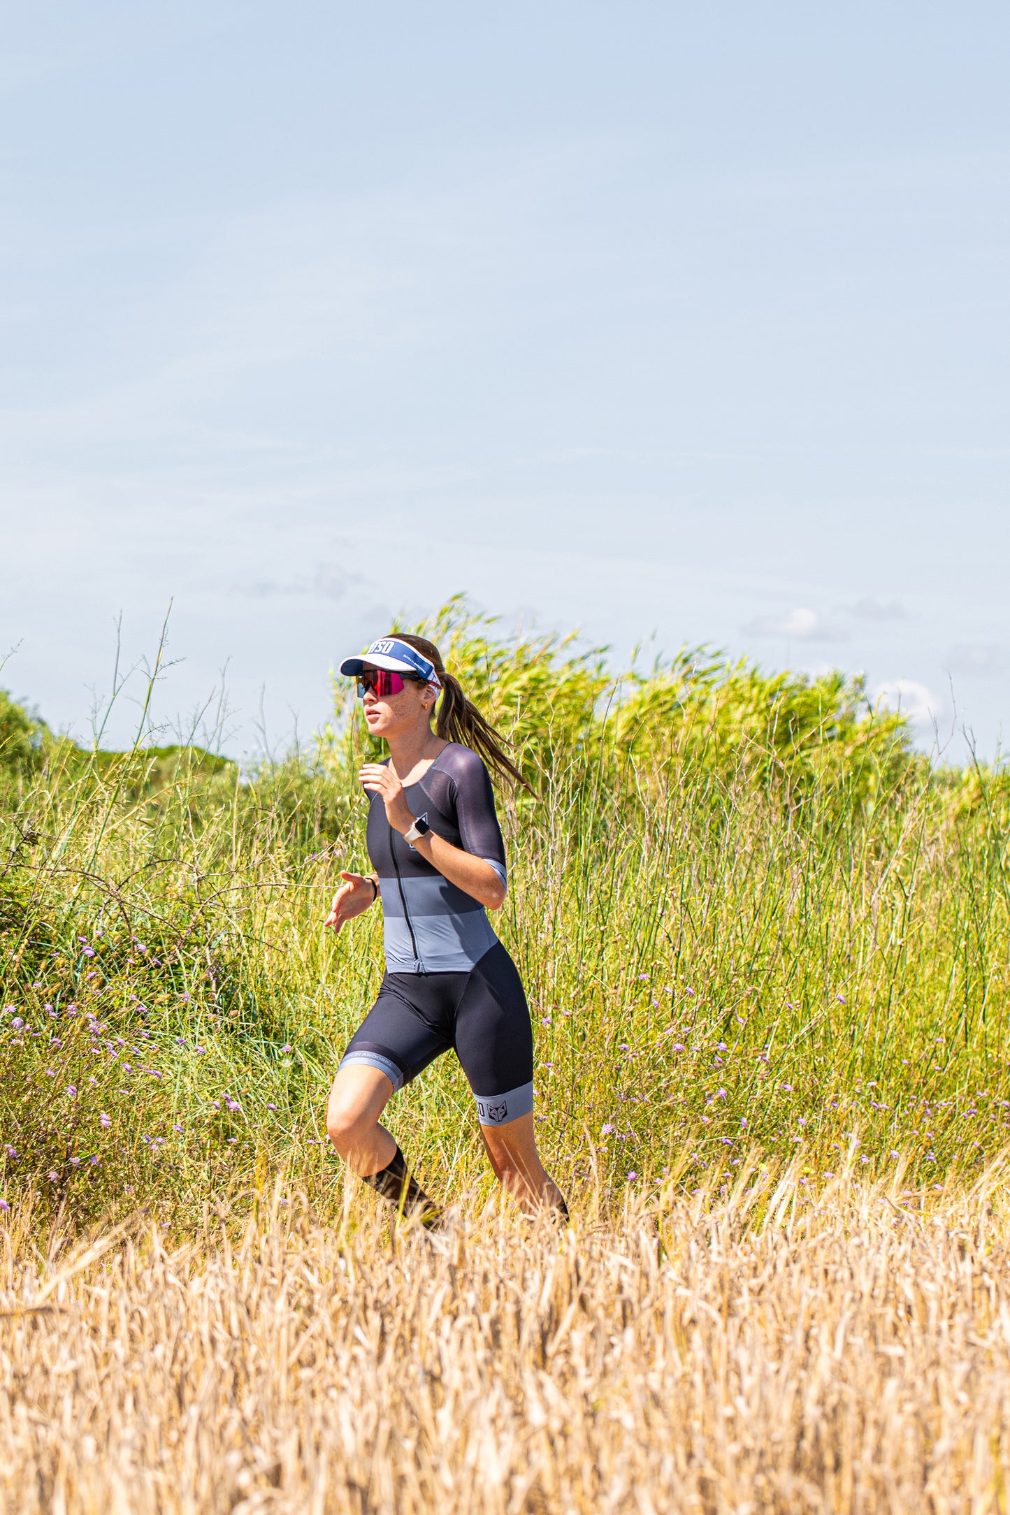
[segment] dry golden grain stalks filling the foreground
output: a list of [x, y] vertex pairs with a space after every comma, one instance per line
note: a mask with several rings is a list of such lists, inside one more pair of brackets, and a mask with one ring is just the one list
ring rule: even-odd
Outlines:
[[348, 1189], [336, 1227], [263, 1204], [235, 1244], [112, 1235], [45, 1267], [15, 1224], [3, 1507], [1004, 1510], [992, 1182], [928, 1212], [760, 1189], [435, 1241]]

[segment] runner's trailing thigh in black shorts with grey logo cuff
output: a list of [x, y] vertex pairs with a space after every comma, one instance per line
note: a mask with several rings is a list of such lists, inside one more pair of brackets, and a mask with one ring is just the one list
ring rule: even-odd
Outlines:
[[482, 1126], [533, 1110], [533, 1027], [522, 980], [501, 942], [469, 974], [456, 1011], [456, 1053]]

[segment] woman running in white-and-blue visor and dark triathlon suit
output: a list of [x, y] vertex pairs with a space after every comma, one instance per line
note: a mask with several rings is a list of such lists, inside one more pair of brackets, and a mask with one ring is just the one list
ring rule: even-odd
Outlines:
[[507, 879], [482, 756], [500, 777], [522, 783], [522, 776], [424, 636], [391, 633], [363, 658], [347, 658], [341, 673], [357, 679], [368, 730], [388, 742], [389, 758], [363, 764], [359, 774], [371, 797], [376, 871], [341, 873], [326, 924], [339, 932], [382, 897], [386, 974], [336, 1070], [330, 1141], [373, 1189], [436, 1224], [438, 1206], [379, 1118], [397, 1089], [451, 1047], [495, 1177], [527, 1214], [568, 1215], [536, 1153], [522, 982], [486, 915], [504, 901]]

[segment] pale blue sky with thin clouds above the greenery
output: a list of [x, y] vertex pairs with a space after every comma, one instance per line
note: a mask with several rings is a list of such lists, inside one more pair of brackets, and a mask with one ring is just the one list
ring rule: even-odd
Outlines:
[[465, 589], [996, 750], [1005, 6], [95, 0], [0, 44], [0, 682], [51, 724], [171, 600], [157, 718], [227, 665], [230, 750], [283, 741]]

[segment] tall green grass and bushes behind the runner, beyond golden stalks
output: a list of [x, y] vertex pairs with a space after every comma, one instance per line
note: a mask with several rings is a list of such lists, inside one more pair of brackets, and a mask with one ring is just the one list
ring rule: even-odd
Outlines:
[[[426, 630], [538, 789], [501, 795], [495, 926], [533, 1011], [544, 1154], [575, 1203], [591, 1182], [728, 1183], [754, 1147], [815, 1176], [857, 1141], [866, 1171], [901, 1164], [910, 1185], [995, 1154], [1001, 771], [930, 765], [840, 676], [689, 651], [613, 679], [465, 601]], [[3, 1203], [182, 1221], [283, 1171], [326, 1209], [326, 1092], [382, 976], [379, 911], [321, 927], [341, 865], [365, 862], [353, 701], [338, 689], [316, 750], [251, 779], [9, 724]], [[451, 1057], [389, 1120], [436, 1194], [477, 1180]]]

